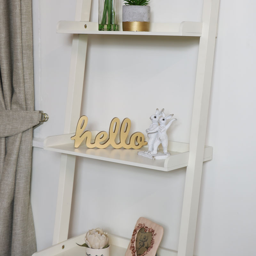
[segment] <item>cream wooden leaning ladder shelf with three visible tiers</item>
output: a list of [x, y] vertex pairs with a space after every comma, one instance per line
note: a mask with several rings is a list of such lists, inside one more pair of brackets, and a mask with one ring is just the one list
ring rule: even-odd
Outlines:
[[[77, 251], [79, 249], [74, 244], [77, 240], [82, 239], [84, 235], [67, 240], [76, 156], [84, 156], [160, 171], [171, 171], [182, 166], [187, 166], [178, 252], [159, 249], [158, 255], [192, 256], [196, 233], [202, 165], [203, 161], [212, 158], [212, 148], [205, 147], [204, 142], [212, 80], [215, 37], [217, 33], [219, 0], [204, 0], [202, 22], [152, 23], [149, 32], [98, 31], [97, 23], [89, 22], [90, 10], [91, 0], [77, 0], [75, 21], [60, 21], [57, 25], [58, 33], [69, 33], [74, 34], [74, 36], [68, 84], [65, 134], [48, 137], [44, 141], [45, 149], [62, 153], [53, 234], [53, 244], [55, 245], [44, 251], [36, 252], [34, 255], [84, 255], [84, 252]], [[113, 157], [115, 155], [113, 149], [108, 149], [103, 153], [103, 151], [97, 149], [74, 149], [74, 147], [71, 147], [69, 138], [72, 136], [71, 133], [76, 130], [76, 123], [80, 117], [89, 34], [200, 37], [190, 141], [189, 144], [171, 142], [171, 150], [174, 152], [166, 161], [159, 162], [159, 166], [156, 166], [157, 164], [152, 163], [152, 161], [149, 161], [151, 164], [142, 163], [142, 160], [138, 161], [136, 154], [132, 152], [131, 156], [121, 156], [122, 154], [120, 153], [120, 156]], [[110, 241], [110, 244], [113, 245], [111, 256], [124, 255], [125, 248], [128, 245], [127, 239], [111, 236]]]

